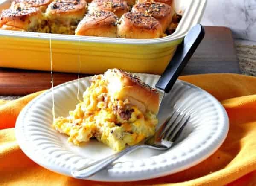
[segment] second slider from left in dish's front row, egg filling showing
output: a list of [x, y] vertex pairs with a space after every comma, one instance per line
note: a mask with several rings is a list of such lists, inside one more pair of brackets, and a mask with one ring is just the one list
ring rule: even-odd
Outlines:
[[85, 0], [55, 0], [45, 12], [52, 33], [74, 34], [87, 10]]

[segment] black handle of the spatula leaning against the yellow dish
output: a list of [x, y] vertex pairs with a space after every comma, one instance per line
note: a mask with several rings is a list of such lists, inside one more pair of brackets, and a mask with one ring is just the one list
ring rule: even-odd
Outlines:
[[158, 89], [169, 93], [203, 38], [204, 27], [201, 24], [195, 25], [187, 33], [183, 42], [177, 47], [175, 55], [169, 62], [166, 70], [163, 72], [163, 75], [157, 81], [156, 87]]

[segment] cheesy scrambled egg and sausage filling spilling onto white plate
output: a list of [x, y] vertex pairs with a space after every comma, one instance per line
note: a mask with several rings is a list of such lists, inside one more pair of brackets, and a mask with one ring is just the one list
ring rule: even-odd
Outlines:
[[[122, 116], [119, 108], [126, 108]], [[70, 111], [68, 117], [58, 117], [53, 127], [67, 134], [68, 141], [75, 145], [96, 137], [115, 151], [126, 145], [135, 145], [154, 134], [157, 118], [154, 113], [142, 113], [128, 100], [116, 100], [109, 96], [102, 75], [94, 76], [92, 84], [83, 94], [83, 102]]]

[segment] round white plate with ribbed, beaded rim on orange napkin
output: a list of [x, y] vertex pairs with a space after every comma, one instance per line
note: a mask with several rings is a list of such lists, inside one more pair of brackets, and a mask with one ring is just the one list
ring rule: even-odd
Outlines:
[[[154, 86], [159, 76], [137, 74]], [[80, 96], [90, 85], [90, 77], [81, 78]], [[67, 116], [75, 108], [77, 81], [54, 87], [55, 116]], [[170, 110], [189, 113], [191, 119], [179, 143], [169, 151], [141, 149], [135, 151], [90, 180], [132, 181], [145, 180], [173, 174], [205, 160], [222, 144], [227, 136], [229, 121], [222, 105], [209, 93], [192, 84], [177, 81], [164, 100], [165, 108], [159, 113], [163, 121]], [[16, 126], [16, 138], [23, 152], [39, 165], [70, 175], [73, 166], [81, 166], [113, 153], [107, 146], [91, 140], [76, 147], [67, 143], [67, 136], [52, 127], [52, 94], [47, 90], [33, 99], [20, 113]]]

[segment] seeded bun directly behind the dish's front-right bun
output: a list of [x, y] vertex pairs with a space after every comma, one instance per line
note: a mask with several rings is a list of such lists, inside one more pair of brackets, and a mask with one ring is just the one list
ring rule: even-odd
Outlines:
[[175, 13], [171, 6], [159, 2], [137, 3], [132, 8], [132, 12], [143, 12], [156, 18], [161, 23], [163, 31], [172, 22], [172, 16]]

